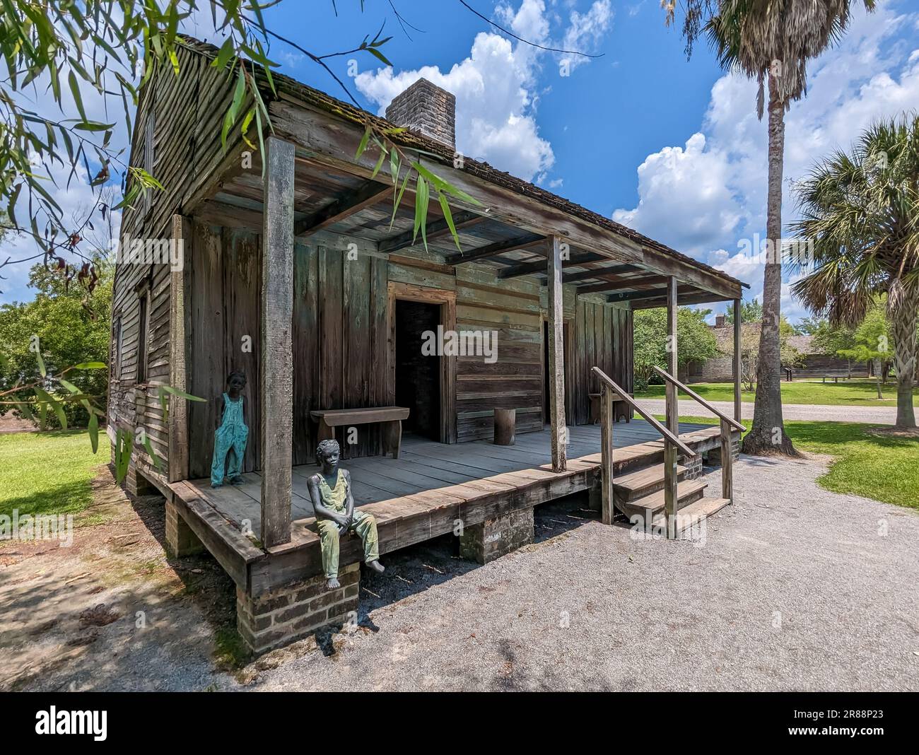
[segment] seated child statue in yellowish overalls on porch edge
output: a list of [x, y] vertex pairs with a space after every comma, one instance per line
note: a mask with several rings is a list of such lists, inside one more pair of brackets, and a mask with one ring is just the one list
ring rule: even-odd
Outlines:
[[377, 520], [373, 514], [354, 510], [351, 476], [338, 468], [341, 448], [335, 440], [324, 440], [316, 449], [322, 469], [307, 480], [319, 529], [319, 545], [323, 552], [323, 573], [329, 590], [341, 587], [338, 582], [338, 539], [347, 532], [356, 532], [364, 544], [364, 563], [377, 573], [380, 545], [377, 540]]

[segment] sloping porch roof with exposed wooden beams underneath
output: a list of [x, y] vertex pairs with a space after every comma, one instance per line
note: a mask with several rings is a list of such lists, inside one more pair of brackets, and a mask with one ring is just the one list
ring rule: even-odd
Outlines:
[[[191, 51], [213, 59], [218, 49], [197, 39], [184, 38]], [[257, 66], [254, 66], [257, 71]], [[271, 103], [272, 118], [283, 108], [294, 106], [322, 113], [335, 121], [350, 124], [363, 130], [368, 124], [380, 130], [391, 129], [396, 124], [373, 115], [366, 110], [349, 105], [318, 89], [304, 85], [289, 76], [272, 74], [275, 92], [272, 93], [263, 80], [262, 96]], [[431, 161], [440, 163], [435, 172], [450, 180], [451, 175], [471, 176], [478, 182], [485, 182], [510, 192], [519, 203], [528, 207], [551, 211], [576, 219], [577, 234], [560, 231], [560, 235], [571, 246], [570, 258], [563, 262], [563, 282], [576, 287], [579, 294], [606, 296], [607, 301], [630, 302], [633, 309], [664, 305], [667, 276], [675, 276], [683, 284], [678, 288], [681, 304], [701, 303], [723, 299], [738, 299], [742, 281], [727, 275], [709, 265], [677, 252], [661, 242], [634, 231], [581, 205], [559, 197], [540, 186], [499, 171], [489, 163], [463, 156], [459, 168], [455, 167], [454, 152], [447, 145], [425, 137], [425, 135], [403, 130], [393, 134], [391, 140], [400, 147], [425, 152]], [[369, 177], [368, 170], [359, 170], [354, 154], [335, 145], [337, 170], [322, 156], [309, 150], [298, 152], [296, 201], [297, 235], [306, 236], [317, 231], [332, 231], [357, 236], [376, 244], [382, 253], [402, 252], [423, 248], [420, 234], [417, 243], [413, 239], [414, 204], [412, 186], [403, 199], [403, 208], [392, 220], [392, 186], [386, 169], [379, 176]], [[374, 154], [375, 161], [376, 154]], [[349, 172], [351, 169], [354, 172]], [[382, 180], [379, 180], [379, 179]], [[225, 176], [220, 191], [210, 201], [211, 210], [221, 215], [221, 208], [229, 206], [239, 210], [261, 211], [260, 165], [254, 165], [252, 173], [233, 169]], [[406, 199], [408, 201], [406, 201]], [[406, 209], [408, 207], [408, 209]], [[510, 223], [508, 217], [516, 217], [516, 208], [498, 206], [474, 206], [451, 199], [453, 220], [459, 232], [459, 250], [453, 242], [448, 225], [437, 203], [431, 204], [426, 225], [427, 248], [443, 255], [445, 265], [462, 265], [478, 262], [500, 268], [501, 278], [516, 276], [538, 276], [546, 283], [546, 255], [548, 244], [546, 233], [540, 229], [528, 228], [526, 222]], [[226, 215], [225, 212], [222, 215]], [[587, 226], [584, 225], [587, 224]], [[252, 225], [260, 223], [253, 220]], [[545, 226], [550, 226], [547, 220]], [[552, 228], [551, 232], [556, 232]]]

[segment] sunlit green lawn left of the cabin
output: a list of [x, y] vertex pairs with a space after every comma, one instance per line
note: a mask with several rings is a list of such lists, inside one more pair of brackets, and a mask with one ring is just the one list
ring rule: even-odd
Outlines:
[[92, 501], [94, 469], [108, 464], [108, 438], [93, 453], [85, 430], [0, 434], [0, 513], [79, 513]]

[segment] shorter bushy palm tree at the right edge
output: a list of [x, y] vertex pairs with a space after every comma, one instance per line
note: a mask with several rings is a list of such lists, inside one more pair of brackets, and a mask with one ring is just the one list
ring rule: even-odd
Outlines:
[[[881, 121], [851, 152], [835, 152], [797, 187], [813, 270], [795, 296], [830, 321], [857, 325], [887, 294], [897, 370], [897, 426], [915, 427], [919, 315], [919, 115]], [[798, 265], [802, 269], [809, 269]], [[886, 344], [879, 351], [886, 351]]]

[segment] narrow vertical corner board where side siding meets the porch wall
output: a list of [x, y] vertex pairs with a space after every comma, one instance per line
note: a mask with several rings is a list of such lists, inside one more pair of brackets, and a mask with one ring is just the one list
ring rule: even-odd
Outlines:
[[[191, 220], [173, 215], [172, 242], [176, 245], [178, 270], [169, 275], [169, 385], [187, 392], [188, 316], [186, 271], [191, 260]], [[169, 397], [169, 481], [188, 479], [187, 400]]]

